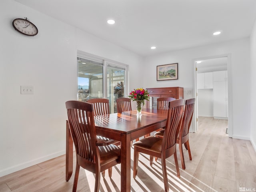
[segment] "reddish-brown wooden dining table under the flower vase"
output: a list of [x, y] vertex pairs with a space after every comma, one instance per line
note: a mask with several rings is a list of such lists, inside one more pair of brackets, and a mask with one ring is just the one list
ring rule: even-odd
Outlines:
[[[132, 110], [94, 117], [96, 134], [121, 142], [121, 192], [131, 189], [131, 141], [162, 128], [168, 110], [143, 109], [142, 115]], [[66, 181], [73, 172], [73, 141], [68, 121], [66, 128]]]

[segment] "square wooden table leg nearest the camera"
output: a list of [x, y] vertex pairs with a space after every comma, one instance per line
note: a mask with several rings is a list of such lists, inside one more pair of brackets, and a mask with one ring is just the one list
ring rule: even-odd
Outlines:
[[131, 135], [121, 137], [121, 192], [131, 191]]

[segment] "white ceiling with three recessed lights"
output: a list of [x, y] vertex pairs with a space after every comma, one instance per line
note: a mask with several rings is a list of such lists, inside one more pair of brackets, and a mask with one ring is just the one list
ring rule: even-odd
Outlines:
[[16, 1], [141, 56], [248, 37], [256, 18], [256, 0]]

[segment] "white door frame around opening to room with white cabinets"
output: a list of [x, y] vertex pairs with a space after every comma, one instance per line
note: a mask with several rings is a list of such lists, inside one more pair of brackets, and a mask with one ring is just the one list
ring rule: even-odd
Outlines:
[[196, 61], [199, 60], [208, 60], [208, 59], [215, 59], [215, 58], [222, 58], [227, 57], [227, 68], [228, 68], [228, 136], [232, 138], [233, 136], [233, 95], [232, 95], [232, 75], [231, 75], [231, 54], [223, 54], [223, 55], [216, 55], [216, 56], [208, 56], [208, 57], [201, 57], [195, 58], [192, 60], [194, 64], [194, 98], [196, 98], [196, 105], [195, 105], [195, 118], [194, 118], [194, 129], [192, 132], [198, 131], [198, 91], [196, 87], [196, 80], [197, 80], [197, 71], [196, 71]]

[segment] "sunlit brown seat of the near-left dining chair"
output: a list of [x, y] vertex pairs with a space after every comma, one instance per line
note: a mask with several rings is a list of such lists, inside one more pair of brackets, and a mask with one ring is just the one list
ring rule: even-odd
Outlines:
[[109, 162], [116, 160], [117, 163], [120, 163], [120, 147], [110, 144], [107, 146], [100, 146], [100, 166], [103, 166]]

